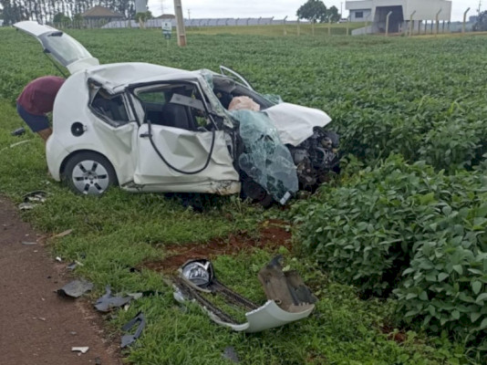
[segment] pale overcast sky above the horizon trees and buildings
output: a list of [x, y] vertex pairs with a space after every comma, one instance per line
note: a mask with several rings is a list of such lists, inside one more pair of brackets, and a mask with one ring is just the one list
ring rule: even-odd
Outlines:
[[[425, 0], [426, 1], [426, 0]], [[149, 8], [154, 16], [164, 13], [174, 14], [173, 0], [149, 0]], [[288, 19], [295, 19], [295, 12], [300, 5], [306, 3], [306, 0], [181, 0], [184, 17], [188, 17], [188, 9], [192, 18], [202, 17], [271, 17], [282, 19], [288, 16]], [[327, 7], [335, 5], [340, 11], [343, 4], [345, 11], [345, 1], [325, 0]], [[467, 7], [471, 7], [469, 16], [477, 13], [479, 0], [453, 0], [451, 10], [451, 20], [461, 20], [463, 12]], [[482, 1], [482, 10], [487, 8], [487, 0]]]

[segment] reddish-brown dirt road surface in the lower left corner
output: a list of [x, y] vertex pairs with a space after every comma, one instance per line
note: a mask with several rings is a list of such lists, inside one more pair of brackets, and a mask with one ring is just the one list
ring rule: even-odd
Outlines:
[[[0, 196], [0, 362], [121, 364], [118, 343], [110, 346], [102, 319], [88, 300], [66, 300], [55, 293], [70, 278], [66, 265], [53, 262], [42, 242]], [[85, 346], [85, 354], [71, 351]]]

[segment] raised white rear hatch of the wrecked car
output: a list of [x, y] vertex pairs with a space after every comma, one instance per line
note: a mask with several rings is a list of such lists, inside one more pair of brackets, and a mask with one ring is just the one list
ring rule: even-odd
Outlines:
[[18, 22], [14, 26], [29, 36], [35, 36], [44, 47], [44, 52], [67, 68], [71, 74], [99, 65], [98, 59], [92, 57], [75, 38], [52, 26], [34, 21]]

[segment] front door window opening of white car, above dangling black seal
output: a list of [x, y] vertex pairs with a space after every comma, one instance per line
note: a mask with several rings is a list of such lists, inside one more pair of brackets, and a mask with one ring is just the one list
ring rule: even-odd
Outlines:
[[208, 124], [199, 89], [192, 84], [171, 84], [135, 90], [144, 121], [183, 130], [202, 130]]

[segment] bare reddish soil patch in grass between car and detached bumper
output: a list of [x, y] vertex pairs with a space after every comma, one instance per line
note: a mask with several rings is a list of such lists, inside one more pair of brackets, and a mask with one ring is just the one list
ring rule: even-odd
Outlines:
[[255, 248], [275, 250], [280, 246], [291, 249], [291, 233], [286, 227], [289, 224], [279, 220], [264, 221], [257, 235], [248, 232], [215, 238], [208, 244], [188, 244], [167, 246], [168, 257], [161, 261], [146, 262], [141, 267], [158, 272], [172, 272], [186, 261], [193, 258], [212, 258], [217, 255], [235, 255]]

